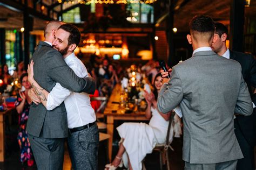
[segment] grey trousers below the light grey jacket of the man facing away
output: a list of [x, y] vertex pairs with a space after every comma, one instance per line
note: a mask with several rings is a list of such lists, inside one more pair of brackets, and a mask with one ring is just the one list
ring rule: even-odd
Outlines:
[[185, 162], [185, 170], [235, 170], [236, 167], [237, 160], [217, 164], [190, 164], [190, 162]]

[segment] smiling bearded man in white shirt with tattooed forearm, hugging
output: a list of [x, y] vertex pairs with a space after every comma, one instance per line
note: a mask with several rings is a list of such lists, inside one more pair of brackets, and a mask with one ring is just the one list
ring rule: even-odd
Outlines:
[[[64, 24], [59, 27], [53, 41], [53, 48], [62, 55], [66, 64], [79, 77], [87, 77], [87, 69], [73, 52], [80, 42], [80, 32], [76, 26]], [[99, 131], [95, 111], [91, 107], [87, 93], [75, 93], [59, 83], [50, 93], [33, 79], [33, 63], [29, 67], [29, 81], [41, 94], [41, 102], [47, 110], [58, 107], [63, 101], [68, 115], [68, 147], [73, 169], [97, 169]], [[43, 100], [43, 99], [46, 100]]]

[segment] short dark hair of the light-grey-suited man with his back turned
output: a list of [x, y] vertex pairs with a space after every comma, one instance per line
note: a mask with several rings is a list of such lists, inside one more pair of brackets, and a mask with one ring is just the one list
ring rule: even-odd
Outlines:
[[190, 22], [190, 30], [201, 33], [211, 32], [214, 34], [215, 24], [211, 17], [199, 15], [194, 16]]

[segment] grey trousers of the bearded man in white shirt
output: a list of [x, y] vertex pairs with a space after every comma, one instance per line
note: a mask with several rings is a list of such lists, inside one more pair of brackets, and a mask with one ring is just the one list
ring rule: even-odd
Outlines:
[[97, 124], [73, 132], [68, 137], [69, 155], [74, 170], [98, 169], [99, 130]]

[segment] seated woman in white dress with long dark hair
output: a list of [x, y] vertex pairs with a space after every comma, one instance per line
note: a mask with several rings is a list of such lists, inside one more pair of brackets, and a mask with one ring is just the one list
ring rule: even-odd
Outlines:
[[[105, 169], [116, 169], [118, 166], [122, 166], [122, 160], [124, 166], [129, 167], [130, 170], [142, 169], [142, 161], [146, 154], [152, 153], [156, 144], [165, 143], [171, 112], [162, 114], [157, 109], [157, 95], [162, 85], [163, 78], [159, 73], [154, 79], [153, 93], [149, 94], [145, 91], [147, 102], [145, 116], [151, 118], [149, 124], [123, 123], [118, 126], [117, 131], [122, 138], [119, 143], [119, 150], [112, 163], [107, 164]], [[174, 116], [174, 119], [178, 119], [178, 117]], [[173, 126], [171, 127], [170, 141], [172, 141], [174, 133]]]

